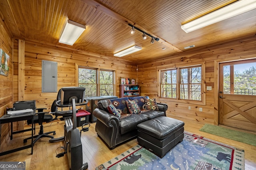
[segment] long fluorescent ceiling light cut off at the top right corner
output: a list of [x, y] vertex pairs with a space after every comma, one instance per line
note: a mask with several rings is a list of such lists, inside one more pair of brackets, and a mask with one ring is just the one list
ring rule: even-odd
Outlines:
[[256, 0], [238, 0], [218, 10], [210, 12], [209, 14], [206, 14], [200, 18], [185, 23], [181, 25], [181, 28], [186, 33], [189, 33], [196, 29], [200, 29], [202, 27], [206, 27], [207, 25], [211, 25], [212, 23], [226, 20], [233, 16], [242, 14], [254, 8], [256, 8]]

